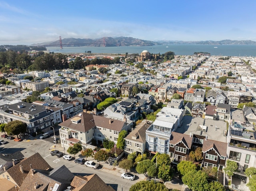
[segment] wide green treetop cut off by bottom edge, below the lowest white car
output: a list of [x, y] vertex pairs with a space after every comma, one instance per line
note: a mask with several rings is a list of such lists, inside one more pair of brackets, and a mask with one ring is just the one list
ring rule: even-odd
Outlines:
[[132, 185], [129, 191], [168, 191], [169, 189], [162, 183], [152, 181], [139, 181]]

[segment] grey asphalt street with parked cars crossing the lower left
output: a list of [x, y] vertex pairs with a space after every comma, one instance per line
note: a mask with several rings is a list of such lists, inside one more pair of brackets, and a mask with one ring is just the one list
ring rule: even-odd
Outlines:
[[[2, 138], [7, 140], [5, 138]], [[16, 151], [21, 151], [25, 158], [28, 158], [38, 152], [49, 165], [53, 168], [65, 165], [68, 169], [74, 173], [74, 175], [89, 175], [96, 173], [105, 183], [110, 184], [116, 191], [128, 191], [129, 188], [141, 180], [138, 177], [134, 181], [128, 179], [122, 179], [120, 177], [121, 173], [116, 174], [108, 173], [108, 169], [100, 167], [99, 169], [92, 169], [86, 167], [85, 165], [80, 165], [74, 162], [74, 160], [68, 161], [63, 158], [57, 158], [56, 156], [50, 155], [50, 150], [54, 149], [54, 144], [52, 143], [53, 137], [40, 140], [32, 138], [30, 140], [23, 140], [22, 142], [14, 142], [14, 140], [8, 140], [9, 143], [0, 146], [0, 153], [14, 153]], [[78, 158], [78, 156], [76, 157]], [[123, 189], [122, 189], [123, 187]]]

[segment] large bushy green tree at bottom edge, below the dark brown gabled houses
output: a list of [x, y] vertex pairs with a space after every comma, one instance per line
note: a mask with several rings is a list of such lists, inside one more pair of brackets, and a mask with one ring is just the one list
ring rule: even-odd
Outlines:
[[182, 177], [182, 182], [192, 190], [206, 191], [208, 190], [207, 174], [201, 170], [190, 170]]

